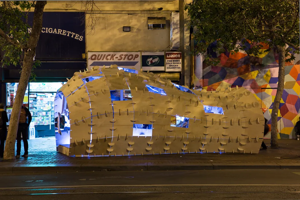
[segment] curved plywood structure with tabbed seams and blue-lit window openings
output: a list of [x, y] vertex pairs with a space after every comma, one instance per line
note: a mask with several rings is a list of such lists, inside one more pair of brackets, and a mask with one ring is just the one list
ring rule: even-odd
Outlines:
[[190, 90], [116, 66], [75, 73], [55, 106], [70, 118], [71, 131], [56, 133], [69, 156], [256, 154], [263, 139], [261, 105], [245, 88]]

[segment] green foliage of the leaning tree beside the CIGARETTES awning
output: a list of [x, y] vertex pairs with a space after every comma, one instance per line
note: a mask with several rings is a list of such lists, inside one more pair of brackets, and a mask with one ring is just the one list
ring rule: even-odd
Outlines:
[[[35, 1], [2, 1], [0, 4], [0, 49], [3, 52], [2, 67], [20, 65], [22, 67], [31, 28], [27, 23], [28, 12], [35, 7]], [[28, 10], [28, 12], [25, 12]], [[40, 62], [33, 64], [33, 69]], [[35, 74], [32, 72], [32, 78]]]

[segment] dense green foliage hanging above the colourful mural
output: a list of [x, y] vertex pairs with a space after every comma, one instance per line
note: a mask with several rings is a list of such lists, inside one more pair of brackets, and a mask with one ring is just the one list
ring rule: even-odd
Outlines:
[[[244, 50], [258, 56], [263, 53], [260, 42], [267, 44], [265, 51], [287, 44], [286, 55], [291, 50], [299, 52], [298, 0], [202, 0], [187, 4], [185, 9], [191, 25], [197, 28], [194, 53], [205, 53], [214, 42], [214, 51], [219, 53]], [[251, 48], [245, 46], [247, 40]], [[209, 53], [205, 59], [217, 62]], [[295, 57], [292, 54], [287, 59]]]

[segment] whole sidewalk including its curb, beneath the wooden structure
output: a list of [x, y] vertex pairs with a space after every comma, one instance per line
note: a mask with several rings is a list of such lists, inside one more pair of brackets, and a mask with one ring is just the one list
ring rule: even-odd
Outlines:
[[[270, 140], [265, 140], [267, 146]], [[280, 149], [259, 154], [191, 153], [118, 157], [68, 157], [56, 152], [55, 140], [29, 140], [29, 159], [0, 162], [0, 174], [200, 169], [300, 169], [300, 141], [279, 140]], [[22, 144], [23, 147], [23, 144]], [[21, 152], [23, 154], [23, 152]]]

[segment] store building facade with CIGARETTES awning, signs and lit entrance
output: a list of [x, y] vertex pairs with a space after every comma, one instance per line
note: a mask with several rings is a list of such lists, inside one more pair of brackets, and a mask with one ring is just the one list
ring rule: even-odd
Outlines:
[[[41, 66], [23, 100], [33, 117], [29, 139], [55, 136], [55, 93], [79, 70], [117, 64], [189, 85], [190, 25], [184, 11], [189, 2], [48, 1], [35, 56]], [[32, 20], [29, 12], [29, 25]], [[1, 102], [9, 118], [20, 70], [0, 69]]]

